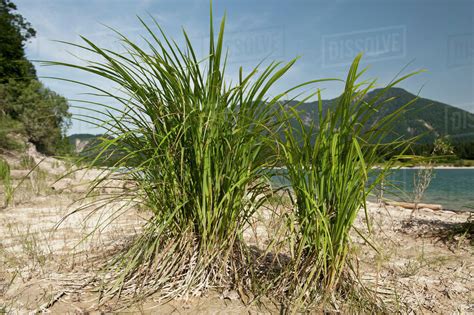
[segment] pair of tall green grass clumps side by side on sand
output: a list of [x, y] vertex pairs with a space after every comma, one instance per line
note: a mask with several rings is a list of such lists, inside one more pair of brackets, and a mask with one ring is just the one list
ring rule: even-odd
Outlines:
[[[91, 150], [95, 156], [87, 157], [89, 168], [107, 166], [91, 195], [108, 180], [133, 182], [132, 189], [105, 199], [122, 205], [108, 216], [120, 216], [127, 206], [148, 213], [139, 237], [107, 264], [102, 297], [133, 301], [159, 292], [166, 300], [232, 288], [254, 297], [270, 294], [288, 310], [321, 301], [321, 292], [333, 292], [340, 284], [349, 231], [377, 184], [366, 185], [371, 167], [380, 161], [377, 152], [404, 145], [381, 142], [385, 125], [403, 109], [365, 127], [385, 101], [364, 99], [373, 83], [364, 88], [356, 83], [357, 57], [337, 106], [323, 113], [320, 105], [318, 125], [307, 128], [283, 98], [322, 80], [268, 97], [295, 60], [272, 62], [248, 74], [240, 69], [237, 82], [226, 82], [225, 18], [215, 38], [211, 12], [209, 51], [202, 60], [186, 32], [180, 48], [155, 21], [152, 26], [140, 21], [147, 33], [145, 48], [117, 32], [125, 53], [83, 38], [84, 45], [72, 45], [101, 61], [49, 63], [119, 87], [111, 92], [72, 81], [109, 99], [83, 100], [88, 106], [80, 107], [91, 112], [81, 119], [107, 130]], [[110, 100], [116, 106], [108, 105]], [[280, 128], [289, 119], [299, 121], [301, 135], [285, 127], [282, 139]], [[293, 189], [285, 217], [289, 244], [256, 257], [243, 230], [272, 195], [268, 170], [281, 163]], [[101, 207], [96, 201], [88, 206]], [[270, 250], [274, 257], [286, 257], [278, 268], [268, 269], [278, 272], [266, 272], [261, 264]]]

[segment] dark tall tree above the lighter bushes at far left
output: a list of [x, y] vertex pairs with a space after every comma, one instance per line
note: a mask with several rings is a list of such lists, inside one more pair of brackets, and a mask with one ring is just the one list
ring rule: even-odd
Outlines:
[[10, 0], [0, 0], [0, 83], [36, 79], [35, 69], [24, 52], [25, 43], [36, 31], [15, 10]]

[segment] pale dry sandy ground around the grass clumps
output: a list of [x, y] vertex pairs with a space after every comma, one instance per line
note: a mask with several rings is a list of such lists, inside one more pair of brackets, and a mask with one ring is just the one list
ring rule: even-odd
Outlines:
[[[58, 225], [66, 214], [81, 205], [77, 200], [85, 189], [74, 187], [87, 186], [97, 174], [76, 174], [61, 186], [56, 182], [58, 175], [51, 172], [39, 192], [31, 191], [25, 184], [15, 205], [0, 210], [0, 312], [23, 314], [45, 310], [77, 314], [113, 310], [113, 305], [98, 306], [98, 295], [91, 290], [90, 279], [97, 266], [140, 232], [144, 214], [130, 209], [112, 224], [98, 228], [97, 222], [104, 218], [101, 215], [120, 207], [120, 203], [107, 203], [103, 211], [84, 210]], [[105, 188], [99, 191], [97, 198], [105, 192]], [[377, 251], [355, 231], [352, 233], [352, 257], [358, 257], [364, 285], [378, 292], [387, 303], [396, 305], [401, 313], [474, 313], [472, 230], [471, 234], [459, 232], [469, 219], [468, 213], [429, 209], [412, 213], [376, 204], [369, 204], [368, 210], [372, 233], [367, 231], [363, 211], [355, 226], [369, 237]], [[263, 220], [271, 220], [265, 212], [261, 214]], [[96, 231], [93, 237], [84, 240], [92, 231]], [[269, 234], [271, 231], [262, 225], [257, 228], [257, 236], [249, 236], [249, 241], [258, 244], [259, 239], [265, 238], [263, 235]], [[199, 298], [165, 305], [150, 297], [128, 311], [277, 312], [274, 308], [246, 306], [232, 292], [207, 292]]]

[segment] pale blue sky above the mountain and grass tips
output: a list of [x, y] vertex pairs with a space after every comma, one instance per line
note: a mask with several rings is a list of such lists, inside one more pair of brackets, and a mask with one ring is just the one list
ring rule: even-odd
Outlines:
[[[209, 2], [131, 0], [16, 0], [19, 12], [37, 30], [27, 46], [29, 58], [78, 62], [74, 49], [54, 42], [79, 43], [84, 35], [102, 46], [120, 49], [116, 38], [102, 24], [139, 40], [142, 28], [136, 15], [150, 14], [170, 37], [181, 39], [181, 27], [190, 34], [204, 56], [208, 40]], [[324, 78], [343, 78], [348, 63], [365, 51], [367, 77], [383, 85], [404, 66], [427, 72], [401, 87], [430, 99], [474, 112], [474, 1], [230, 1], [215, 0], [216, 20], [227, 12], [229, 77], [238, 66], [250, 69], [262, 59], [300, 59], [279, 88]], [[80, 55], [81, 57], [87, 57]], [[63, 76], [112, 88], [107, 82], [55, 68], [39, 67], [40, 76]], [[63, 82], [43, 80], [68, 98], [84, 90]], [[332, 98], [341, 85], [330, 84], [323, 98]], [[73, 110], [73, 112], [80, 112]], [[96, 132], [74, 122], [69, 133]]]

